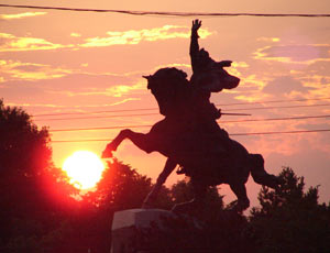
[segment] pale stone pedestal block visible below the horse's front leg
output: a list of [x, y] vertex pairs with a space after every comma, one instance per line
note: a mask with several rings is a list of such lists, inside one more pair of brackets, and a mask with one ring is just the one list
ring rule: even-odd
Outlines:
[[145, 238], [141, 231], [153, 224], [161, 228], [162, 218], [166, 217], [175, 216], [162, 209], [130, 209], [116, 212], [112, 221], [111, 253], [157, 252], [156, 249], [146, 249], [148, 243], [156, 244], [156, 237], [148, 234]]

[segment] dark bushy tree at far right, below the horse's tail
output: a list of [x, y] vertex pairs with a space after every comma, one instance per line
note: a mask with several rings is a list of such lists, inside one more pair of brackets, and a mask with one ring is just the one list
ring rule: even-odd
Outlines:
[[330, 206], [318, 204], [318, 187], [306, 193], [304, 177], [292, 168], [279, 174], [277, 190], [263, 187], [261, 208], [251, 212], [250, 233], [257, 252], [327, 252], [330, 249]]

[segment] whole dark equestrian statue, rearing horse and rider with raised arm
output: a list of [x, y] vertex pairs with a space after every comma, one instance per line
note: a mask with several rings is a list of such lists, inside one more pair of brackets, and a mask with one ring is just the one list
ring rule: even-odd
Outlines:
[[240, 79], [224, 69], [231, 66], [231, 61], [216, 62], [206, 50], [199, 48], [200, 26], [201, 21], [193, 21], [190, 80], [185, 72], [174, 67], [161, 68], [153, 75], [144, 76], [164, 119], [155, 123], [148, 133], [130, 129], [120, 131], [107, 145], [102, 157], [112, 157], [112, 152], [125, 139], [146, 153], [158, 152], [167, 157], [143, 208], [153, 207], [162, 185], [178, 166], [179, 174], [190, 177], [195, 197], [191, 201], [176, 205], [174, 211], [202, 208], [209, 186], [228, 184], [238, 197], [233, 210], [241, 212], [250, 206], [245, 188], [250, 174], [255, 183], [271, 188], [277, 188], [280, 182], [265, 170], [261, 154], [249, 153], [217, 123], [221, 110], [210, 102], [211, 92], [233, 89]]

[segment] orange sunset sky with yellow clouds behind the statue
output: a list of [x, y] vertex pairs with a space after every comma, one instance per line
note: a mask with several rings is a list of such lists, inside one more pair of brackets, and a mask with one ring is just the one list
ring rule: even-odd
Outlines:
[[[256, 13], [330, 13], [328, 0], [293, 1], [7, 1], [8, 4], [34, 4], [72, 8]], [[134, 16], [113, 13], [85, 13], [0, 8], [0, 97], [8, 106], [21, 106], [34, 114], [38, 127], [61, 129], [150, 125], [161, 116], [157, 110], [90, 114], [156, 108], [142, 75], [164, 66], [190, 72], [188, 55], [193, 18]], [[330, 99], [305, 102], [253, 103], [272, 100], [330, 97], [330, 18], [205, 18], [200, 45], [218, 61], [234, 62], [230, 72], [241, 78], [240, 86], [212, 96], [215, 103], [251, 102], [221, 106], [223, 111], [256, 107], [330, 105]], [[37, 114], [58, 114], [37, 117]], [[251, 109], [249, 119], [330, 114], [329, 106]], [[120, 117], [112, 117], [119, 114]], [[108, 118], [100, 118], [106, 117]], [[84, 118], [88, 119], [74, 119]], [[94, 117], [94, 118], [90, 118]], [[246, 119], [223, 117], [222, 121]], [[330, 129], [329, 118], [260, 122], [223, 122], [229, 133]], [[148, 128], [134, 129], [146, 132]], [[52, 140], [112, 139], [119, 129], [52, 132]], [[277, 174], [290, 166], [307, 185], [321, 185], [321, 201], [330, 194], [330, 133], [232, 136], [250, 152], [262, 153], [268, 172]], [[106, 142], [53, 143], [57, 166], [76, 150], [98, 154]], [[117, 157], [139, 173], [155, 178], [165, 158], [147, 155], [129, 141]], [[178, 176], [172, 175], [169, 184]], [[232, 199], [227, 186], [221, 194]], [[249, 197], [256, 205], [260, 186], [248, 183]]]

